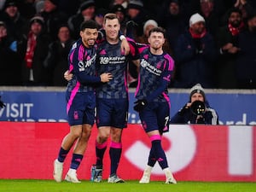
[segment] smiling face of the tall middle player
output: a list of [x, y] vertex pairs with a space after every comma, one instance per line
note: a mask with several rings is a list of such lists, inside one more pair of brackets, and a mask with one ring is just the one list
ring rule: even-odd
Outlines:
[[120, 24], [118, 18], [105, 18], [103, 27], [106, 31], [106, 38], [109, 43], [117, 43], [119, 41]]

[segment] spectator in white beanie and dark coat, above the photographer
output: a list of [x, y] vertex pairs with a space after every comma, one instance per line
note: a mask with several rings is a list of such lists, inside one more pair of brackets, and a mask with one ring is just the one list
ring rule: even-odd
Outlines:
[[177, 38], [174, 48], [176, 61], [175, 87], [189, 88], [200, 83], [206, 88], [214, 86], [213, 64], [217, 49], [212, 35], [205, 27], [205, 19], [192, 15], [189, 19], [189, 31]]

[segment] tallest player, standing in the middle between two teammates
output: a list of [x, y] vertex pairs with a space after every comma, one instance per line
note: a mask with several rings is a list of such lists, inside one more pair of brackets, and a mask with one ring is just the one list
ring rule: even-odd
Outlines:
[[124, 180], [117, 176], [117, 169], [122, 152], [122, 131], [127, 126], [127, 61], [128, 59], [137, 60], [138, 51], [135, 42], [128, 39], [131, 46], [130, 55], [122, 53], [119, 40], [120, 22], [117, 15], [105, 15], [103, 28], [106, 32], [106, 41], [98, 45], [97, 73], [111, 73], [113, 79], [96, 89], [98, 135], [96, 137], [96, 174], [94, 182], [102, 181], [102, 160], [110, 136], [111, 168], [108, 183], [124, 183]]

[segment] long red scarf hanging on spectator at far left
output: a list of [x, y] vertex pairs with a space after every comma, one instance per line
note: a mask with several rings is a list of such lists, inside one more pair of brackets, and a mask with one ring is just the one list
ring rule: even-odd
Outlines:
[[32, 60], [33, 60], [36, 45], [37, 45], [37, 36], [35, 36], [32, 32], [29, 32], [28, 38], [27, 38], [26, 56], [25, 56], [27, 68], [32, 68]]

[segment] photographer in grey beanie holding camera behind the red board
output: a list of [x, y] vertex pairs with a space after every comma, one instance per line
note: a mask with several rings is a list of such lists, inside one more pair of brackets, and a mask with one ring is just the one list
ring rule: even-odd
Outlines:
[[195, 84], [190, 89], [189, 102], [175, 113], [171, 119], [171, 124], [218, 125], [218, 113], [207, 102], [201, 84]]

